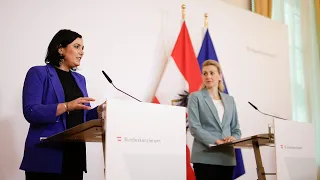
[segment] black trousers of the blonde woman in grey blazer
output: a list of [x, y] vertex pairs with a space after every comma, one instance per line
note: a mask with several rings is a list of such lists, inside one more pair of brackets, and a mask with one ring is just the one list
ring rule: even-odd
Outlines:
[[232, 180], [234, 166], [193, 164], [196, 180]]

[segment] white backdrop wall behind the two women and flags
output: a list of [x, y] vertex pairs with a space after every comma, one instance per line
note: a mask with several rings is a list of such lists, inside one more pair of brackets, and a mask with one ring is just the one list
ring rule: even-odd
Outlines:
[[[203, 14], [209, 13], [210, 33], [228, 89], [238, 104], [244, 136], [264, 132], [265, 120], [269, 120], [247, 101], [291, 118], [287, 36], [281, 24], [220, 0], [5, 0], [0, 2], [0, 179], [24, 178], [18, 170], [28, 129], [21, 109], [23, 80], [31, 66], [44, 64], [54, 33], [70, 28], [84, 36], [80, 73], [86, 76], [90, 96], [97, 99], [93, 105], [105, 97], [130, 99], [108, 84], [102, 69], [116, 86], [150, 101], [180, 30], [182, 3], [187, 5], [186, 20], [196, 53]], [[103, 179], [101, 146], [88, 144], [86, 179]], [[272, 158], [272, 153], [266, 154]], [[244, 157], [247, 175], [241, 179], [254, 179], [253, 154], [247, 151]], [[268, 164], [267, 170], [272, 168], [272, 162]]]

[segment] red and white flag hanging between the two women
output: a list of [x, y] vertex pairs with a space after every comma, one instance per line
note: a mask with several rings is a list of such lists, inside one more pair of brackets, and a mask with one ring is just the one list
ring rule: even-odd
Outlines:
[[[192, 93], [199, 90], [201, 72], [197, 57], [185, 21], [166, 64], [153, 102], [172, 105], [186, 91]], [[186, 142], [187, 151], [187, 180], [195, 180], [193, 168], [190, 164], [190, 148]]]

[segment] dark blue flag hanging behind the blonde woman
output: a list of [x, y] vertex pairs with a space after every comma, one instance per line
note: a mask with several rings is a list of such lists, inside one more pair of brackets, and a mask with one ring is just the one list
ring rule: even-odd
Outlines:
[[[210, 34], [209, 34], [209, 30], [207, 29], [206, 34], [203, 38], [199, 55], [198, 55], [198, 63], [201, 70], [202, 70], [202, 63], [208, 59], [219, 62]], [[227, 86], [224, 80], [223, 80], [223, 83], [225, 85], [224, 92], [228, 94]], [[237, 166], [234, 169], [233, 179], [236, 179], [245, 174], [241, 149], [235, 149], [235, 153], [236, 153]]]

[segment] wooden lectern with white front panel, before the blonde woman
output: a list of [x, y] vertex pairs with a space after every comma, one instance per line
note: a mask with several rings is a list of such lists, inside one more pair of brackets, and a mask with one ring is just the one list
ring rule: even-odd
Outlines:
[[[266, 175], [276, 175], [279, 180], [316, 180], [317, 165], [312, 123], [275, 118], [272, 124], [272, 128], [268, 127], [268, 133], [249, 136], [234, 142], [212, 146], [212, 148], [234, 146], [240, 149], [253, 149], [258, 180], [266, 180]], [[276, 173], [264, 171], [260, 146], [274, 148]]]

